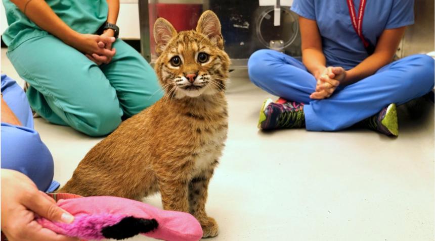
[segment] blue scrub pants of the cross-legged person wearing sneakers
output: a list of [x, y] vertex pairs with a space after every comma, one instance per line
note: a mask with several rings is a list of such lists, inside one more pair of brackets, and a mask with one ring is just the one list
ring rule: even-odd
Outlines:
[[306, 129], [337, 131], [378, 113], [385, 106], [403, 104], [433, 88], [434, 60], [411, 55], [379, 69], [352, 85], [339, 86], [327, 99], [312, 100], [316, 79], [297, 59], [262, 49], [248, 61], [250, 80], [263, 90], [287, 100], [305, 103]]

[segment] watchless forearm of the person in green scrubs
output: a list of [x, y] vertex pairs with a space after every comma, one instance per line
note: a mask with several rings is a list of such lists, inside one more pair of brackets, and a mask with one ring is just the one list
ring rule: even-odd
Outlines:
[[41, 29], [53, 34], [66, 44], [78, 35], [60, 19], [44, 0], [11, 0]]

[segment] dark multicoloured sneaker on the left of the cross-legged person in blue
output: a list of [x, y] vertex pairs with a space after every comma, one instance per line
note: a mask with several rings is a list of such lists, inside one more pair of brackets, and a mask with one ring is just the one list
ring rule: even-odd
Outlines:
[[305, 114], [303, 114], [302, 103], [285, 101], [282, 98], [278, 102], [274, 103], [272, 99], [265, 100], [260, 110], [259, 129], [273, 130], [305, 127]]

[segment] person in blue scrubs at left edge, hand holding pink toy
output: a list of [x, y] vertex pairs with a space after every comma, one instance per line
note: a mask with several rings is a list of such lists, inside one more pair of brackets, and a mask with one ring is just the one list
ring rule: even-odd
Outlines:
[[71, 223], [74, 217], [44, 192], [53, 192], [53, 157], [33, 130], [24, 91], [6, 75], [2, 87], [2, 240], [77, 241], [36, 223], [36, 215]]

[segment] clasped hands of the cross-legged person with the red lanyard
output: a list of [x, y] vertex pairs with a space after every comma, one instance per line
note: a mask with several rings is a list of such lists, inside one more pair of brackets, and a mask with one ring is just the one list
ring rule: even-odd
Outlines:
[[346, 71], [341, 67], [328, 67], [317, 77], [316, 91], [310, 95], [311, 99], [326, 99], [334, 93], [340, 82], [346, 77]]

